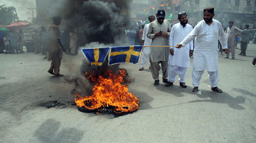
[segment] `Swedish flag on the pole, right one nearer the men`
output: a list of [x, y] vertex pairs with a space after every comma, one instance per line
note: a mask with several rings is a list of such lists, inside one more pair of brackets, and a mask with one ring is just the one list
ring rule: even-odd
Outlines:
[[109, 64], [138, 63], [142, 46], [111, 47]]

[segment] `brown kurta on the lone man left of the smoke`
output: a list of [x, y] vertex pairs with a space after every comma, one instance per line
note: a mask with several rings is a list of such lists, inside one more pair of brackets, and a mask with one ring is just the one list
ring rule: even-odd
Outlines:
[[48, 43], [48, 50], [49, 56], [48, 61], [53, 59], [62, 59], [62, 49], [58, 43], [58, 39], [60, 39], [59, 27], [55, 24], [52, 24], [49, 27], [49, 43]]

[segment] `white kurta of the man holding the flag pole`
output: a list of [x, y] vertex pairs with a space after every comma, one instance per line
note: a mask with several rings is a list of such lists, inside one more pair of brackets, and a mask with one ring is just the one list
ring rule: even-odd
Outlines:
[[193, 53], [193, 67], [196, 71], [207, 70], [209, 72], [218, 71], [218, 39], [222, 49], [227, 49], [227, 40], [219, 21], [213, 19], [208, 25], [201, 20], [196, 27], [182, 40], [184, 46], [189, 44], [194, 38], [195, 47]]

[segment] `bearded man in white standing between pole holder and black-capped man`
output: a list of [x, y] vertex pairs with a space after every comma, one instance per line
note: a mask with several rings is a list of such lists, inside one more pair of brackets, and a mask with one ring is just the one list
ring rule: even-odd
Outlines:
[[[193, 30], [193, 27], [188, 24], [188, 18], [186, 12], [178, 13], [179, 23], [172, 26], [169, 45], [174, 46], [179, 43]], [[193, 41], [182, 48], [170, 47], [169, 54], [169, 69], [168, 77], [169, 82], [165, 86], [172, 86], [176, 75], [179, 74], [179, 85], [183, 88], [187, 87], [185, 84], [185, 78], [187, 68], [190, 68], [189, 57], [193, 55]]]

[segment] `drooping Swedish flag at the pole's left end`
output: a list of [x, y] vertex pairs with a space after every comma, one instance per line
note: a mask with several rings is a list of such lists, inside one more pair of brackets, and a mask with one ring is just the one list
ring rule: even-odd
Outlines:
[[101, 66], [108, 54], [110, 48], [88, 48], [82, 49], [85, 57], [93, 66]]

